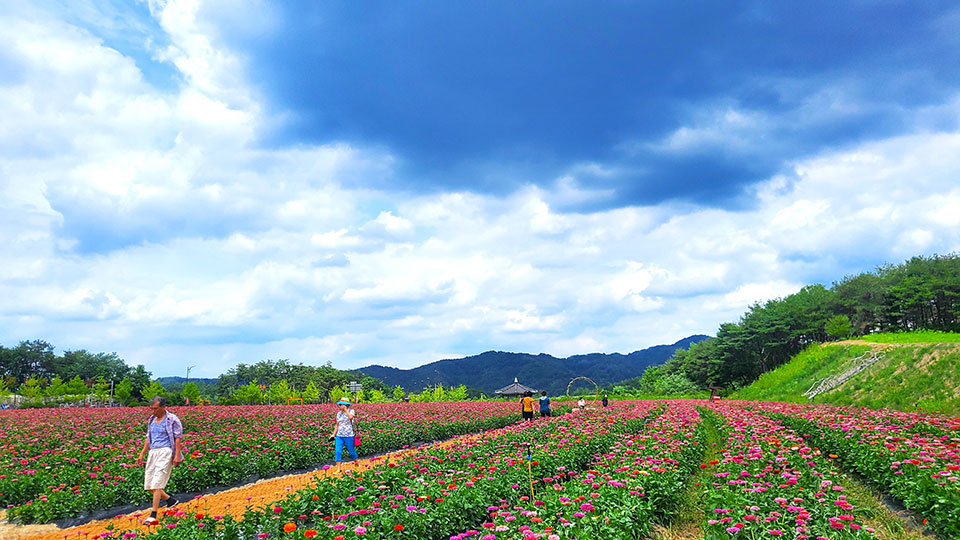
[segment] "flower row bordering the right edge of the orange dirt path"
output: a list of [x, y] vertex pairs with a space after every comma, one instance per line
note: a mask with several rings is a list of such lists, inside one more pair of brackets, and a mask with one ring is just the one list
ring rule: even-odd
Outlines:
[[[360, 475], [320, 478], [314, 487], [242, 516], [165, 516], [151, 538], [444, 539], [489, 518], [491, 506], [530, 502], [572, 485], [578, 474], [643, 429], [652, 402], [519, 422], [456, 445], [381, 464]], [[527, 459], [527, 456], [532, 459]], [[123, 534], [142, 534], [125, 531]], [[120, 533], [117, 533], [118, 535]]]

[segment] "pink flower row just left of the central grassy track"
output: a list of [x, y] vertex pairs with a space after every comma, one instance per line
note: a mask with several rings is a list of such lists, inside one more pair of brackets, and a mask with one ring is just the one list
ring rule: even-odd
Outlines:
[[694, 403], [672, 402], [639, 433], [619, 435], [585, 472], [557, 471], [534, 500], [501, 499], [481, 527], [450, 538], [644, 538], [679, 505], [702, 441]]

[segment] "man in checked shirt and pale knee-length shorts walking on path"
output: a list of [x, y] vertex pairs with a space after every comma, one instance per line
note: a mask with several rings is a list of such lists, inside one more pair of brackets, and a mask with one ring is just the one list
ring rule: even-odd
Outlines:
[[147, 418], [147, 438], [144, 439], [143, 449], [137, 456], [137, 465], [143, 463], [143, 455], [149, 450], [147, 468], [143, 473], [143, 489], [153, 493], [153, 509], [150, 517], [143, 523], [156, 525], [160, 501], [166, 501], [166, 506], [179, 502], [164, 489], [170, 481], [173, 467], [183, 461], [183, 423], [177, 415], [167, 410], [167, 400], [160, 396], [150, 401], [150, 412], [152, 414]]

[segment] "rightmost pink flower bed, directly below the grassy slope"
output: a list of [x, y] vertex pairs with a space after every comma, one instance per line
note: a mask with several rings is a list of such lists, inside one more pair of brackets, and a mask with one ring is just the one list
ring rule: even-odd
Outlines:
[[960, 432], [955, 419], [819, 405], [756, 404], [810, 437], [844, 468], [903, 501], [946, 538], [960, 538]]

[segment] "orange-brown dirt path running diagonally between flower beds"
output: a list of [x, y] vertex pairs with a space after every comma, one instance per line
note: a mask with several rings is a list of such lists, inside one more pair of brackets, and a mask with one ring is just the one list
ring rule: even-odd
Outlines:
[[[423, 451], [430, 448], [442, 448], [456, 444], [469, 442], [475, 438], [483, 436], [484, 433], [472, 433], [461, 435], [446, 441], [428, 444], [417, 448], [407, 450], [398, 450], [386, 455], [360, 459], [356, 463], [344, 464], [343, 474], [363, 474], [363, 471], [374, 467], [375, 465], [389, 462], [391, 460], [402, 459], [405, 456]], [[247, 484], [232, 489], [227, 489], [209, 495], [199, 496], [190, 501], [184, 501], [173, 507], [171, 511], [184, 514], [203, 513], [209, 516], [222, 516], [231, 514], [241, 517], [244, 510], [248, 507], [263, 506], [268, 503], [285, 499], [291, 492], [303, 489], [314, 482], [315, 479], [327, 476], [335, 476], [335, 469], [317, 470], [303, 474], [293, 474], [261, 480], [253, 484]], [[163, 509], [161, 508], [161, 512]], [[100, 537], [103, 533], [110, 532], [108, 526], [114, 530], [124, 531], [128, 529], [148, 530], [141, 522], [150, 513], [150, 508], [120, 515], [112, 519], [103, 519], [91, 521], [85, 525], [60, 529], [56, 525], [15, 525], [2, 521], [0, 515], [0, 538], [3, 540], [92, 540]], [[162, 525], [161, 525], [162, 526]]]

